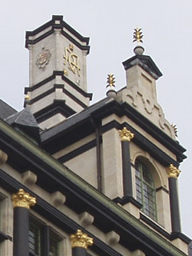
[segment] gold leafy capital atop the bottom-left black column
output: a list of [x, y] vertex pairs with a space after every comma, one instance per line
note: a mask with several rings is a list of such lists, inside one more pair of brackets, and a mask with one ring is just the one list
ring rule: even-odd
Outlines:
[[12, 201], [14, 207], [24, 207], [30, 209], [30, 206], [34, 206], [36, 203], [36, 198], [30, 196], [23, 189], [18, 190], [17, 194], [12, 195]]

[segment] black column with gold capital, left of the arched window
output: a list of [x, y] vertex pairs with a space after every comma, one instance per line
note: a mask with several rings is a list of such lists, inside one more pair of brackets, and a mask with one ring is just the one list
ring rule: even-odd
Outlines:
[[130, 140], [134, 138], [134, 134], [123, 127], [119, 130], [122, 141], [122, 179], [124, 197], [133, 197], [132, 174], [130, 165]]

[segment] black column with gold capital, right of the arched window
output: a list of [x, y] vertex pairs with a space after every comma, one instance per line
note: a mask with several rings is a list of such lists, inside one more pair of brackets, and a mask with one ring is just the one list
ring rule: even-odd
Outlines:
[[181, 232], [180, 212], [178, 203], [178, 184], [177, 179], [180, 170], [172, 164], [167, 168], [170, 189], [170, 218], [172, 232]]

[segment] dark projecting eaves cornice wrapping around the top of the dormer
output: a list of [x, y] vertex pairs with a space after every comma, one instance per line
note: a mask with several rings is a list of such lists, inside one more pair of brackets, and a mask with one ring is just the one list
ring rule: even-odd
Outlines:
[[[102, 130], [102, 118], [106, 118], [110, 114], [117, 114], [118, 117], [125, 115], [130, 118], [177, 156], [177, 166], [179, 165], [179, 162], [182, 162], [183, 159], [186, 158], [186, 155], [184, 154], [186, 149], [159, 129], [158, 126], [155, 126], [153, 122], [150, 122], [148, 118], [140, 114], [138, 110], [135, 110], [134, 107], [130, 106], [127, 102], [116, 102], [109, 98], [105, 98], [102, 101], [95, 103], [86, 110], [83, 110], [81, 113], [74, 114], [74, 116], [68, 118], [58, 126], [54, 126], [53, 128], [50, 128], [50, 130], [42, 132], [42, 147], [49, 151], [50, 154], [54, 154], [59, 149], [55, 147], [54, 150], [54, 146], [51, 144], [52, 142], [58, 145], [57, 140], [59, 141], [61, 138], [66, 138], [66, 136], [69, 138], [69, 135], [72, 133], [76, 134], [76, 136], [80, 136], [80, 130], [87, 130], [87, 132], [90, 130], [90, 133], [94, 133], [94, 127], [92, 125], [93, 119], [98, 122], [98, 126]], [[135, 132], [134, 127], [132, 127], [132, 129]], [[74, 137], [73, 134], [71, 137]], [[144, 138], [144, 136], [142, 137]], [[136, 141], [137, 138], [134, 138], [134, 140]]]

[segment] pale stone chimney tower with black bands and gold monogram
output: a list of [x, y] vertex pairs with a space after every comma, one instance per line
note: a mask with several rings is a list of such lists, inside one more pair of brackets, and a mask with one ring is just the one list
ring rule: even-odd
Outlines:
[[30, 109], [44, 130], [57, 125], [90, 104], [86, 87], [86, 55], [89, 38], [84, 38], [62, 20], [26, 32], [30, 54]]

